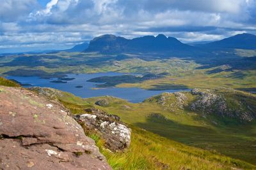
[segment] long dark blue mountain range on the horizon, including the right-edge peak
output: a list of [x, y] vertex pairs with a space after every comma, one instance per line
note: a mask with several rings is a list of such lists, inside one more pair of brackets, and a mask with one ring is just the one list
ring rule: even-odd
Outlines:
[[205, 49], [239, 48], [256, 49], [256, 36], [253, 34], [237, 34], [229, 38], [210, 43], [187, 45], [173, 37], [163, 34], [125, 39], [120, 36], [106, 34], [92, 39], [84, 52], [100, 53], [150, 53], [150, 52], [195, 52]]

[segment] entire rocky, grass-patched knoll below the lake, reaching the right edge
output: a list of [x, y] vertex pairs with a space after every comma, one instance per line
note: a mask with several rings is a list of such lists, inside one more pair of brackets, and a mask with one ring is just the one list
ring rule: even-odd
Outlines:
[[252, 122], [256, 119], [255, 94], [234, 89], [192, 89], [191, 92], [163, 93], [145, 102], [158, 103], [175, 112], [195, 111], [202, 117], [212, 115], [239, 122]]

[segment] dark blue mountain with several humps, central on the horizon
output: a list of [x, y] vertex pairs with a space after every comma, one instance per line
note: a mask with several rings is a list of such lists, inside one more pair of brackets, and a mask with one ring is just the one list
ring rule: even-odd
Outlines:
[[178, 39], [158, 36], [143, 36], [134, 39], [125, 39], [120, 36], [106, 34], [92, 39], [85, 52], [100, 53], [156, 53], [156, 52], [188, 52], [193, 46], [181, 43]]

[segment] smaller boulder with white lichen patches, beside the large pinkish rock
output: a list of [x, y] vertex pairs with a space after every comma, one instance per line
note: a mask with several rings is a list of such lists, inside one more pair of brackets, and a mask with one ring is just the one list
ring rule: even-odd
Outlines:
[[131, 129], [116, 115], [108, 115], [97, 109], [85, 110], [83, 115], [75, 115], [85, 131], [96, 132], [106, 142], [106, 147], [113, 152], [128, 148], [131, 143]]

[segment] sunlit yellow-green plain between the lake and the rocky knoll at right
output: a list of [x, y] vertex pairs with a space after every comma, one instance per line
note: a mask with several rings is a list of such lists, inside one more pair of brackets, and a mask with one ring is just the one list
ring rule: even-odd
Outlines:
[[[208, 69], [207, 69], [208, 70]], [[221, 73], [206, 74], [207, 70], [195, 70], [193, 74], [184, 76], [166, 76], [157, 80], [147, 80], [141, 83], [122, 83], [117, 87], [140, 87], [149, 90], [177, 89], [177, 87], [195, 87], [202, 89], [216, 89], [219, 87], [230, 87], [232, 89], [255, 89], [256, 71], [223, 71]], [[234, 76], [243, 73], [244, 77]]]

